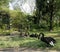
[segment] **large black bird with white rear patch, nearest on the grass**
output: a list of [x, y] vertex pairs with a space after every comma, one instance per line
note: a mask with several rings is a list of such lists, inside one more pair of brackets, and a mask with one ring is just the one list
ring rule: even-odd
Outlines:
[[39, 34], [39, 38], [41, 39], [41, 41], [45, 42], [48, 45], [54, 46], [54, 43], [56, 43], [56, 40], [52, 37], [44, 37], [43, 33]]

